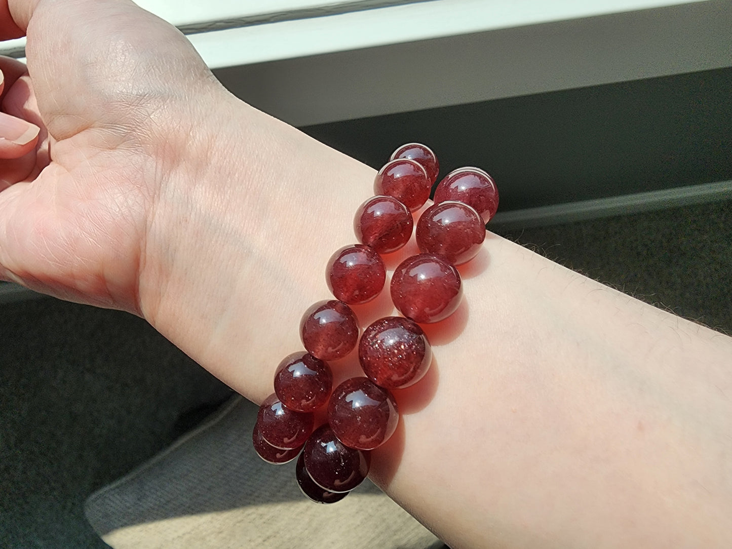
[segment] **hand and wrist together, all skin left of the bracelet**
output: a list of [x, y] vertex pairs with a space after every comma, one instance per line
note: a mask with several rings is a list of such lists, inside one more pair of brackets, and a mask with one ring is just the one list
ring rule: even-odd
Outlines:
[[0, 61], [2, 109], [40, 133], [0, 141], [0, 278], [141, 315], [266, 397], [328, 295], [303, 266], [353, 238], [367, 191], [349, 186], [373, 170], [236, 100], [131, 1], [0, 0], [0, 38], [24, 32], [28, 70]]

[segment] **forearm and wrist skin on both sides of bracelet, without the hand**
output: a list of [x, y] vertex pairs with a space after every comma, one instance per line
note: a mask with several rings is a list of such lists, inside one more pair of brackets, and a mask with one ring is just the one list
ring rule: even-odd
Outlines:
[[[218, 126], [236, 143], [197, 169], [196, 193], [163, 197], [179, 234], [152, 226], [168, 258], [141, 309], [260, 401], [302, 347], [300, 315], [329, 297], [324, 266], [354, 242], [373, 170], [231, 108]], [[497, 236], [462, 272], [466, 305], [427, 327], [435, 361], [397, 392], [373, 479], [455, 547], [728, 545], [731, 340]], [[391, 314], [388, 292], [356, 313]], [[353, 354], [332, 366], [336, 382], [358, 371]]]

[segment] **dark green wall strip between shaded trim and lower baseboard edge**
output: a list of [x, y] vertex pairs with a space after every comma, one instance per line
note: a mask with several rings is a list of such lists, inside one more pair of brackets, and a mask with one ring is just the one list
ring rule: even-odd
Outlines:
[[374, 168], [401, 143], [426, 143], [443, 173], [490, 172], [502, 211], [724, 181], [732, 179], [732, 68], [302, 130]]

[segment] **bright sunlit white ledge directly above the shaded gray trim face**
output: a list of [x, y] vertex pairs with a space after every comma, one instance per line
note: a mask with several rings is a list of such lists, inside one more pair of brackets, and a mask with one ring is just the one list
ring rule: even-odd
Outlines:
[[189, 38], [209, 67], [234, 67], [699, 1], [703, 0], [434, 0]]

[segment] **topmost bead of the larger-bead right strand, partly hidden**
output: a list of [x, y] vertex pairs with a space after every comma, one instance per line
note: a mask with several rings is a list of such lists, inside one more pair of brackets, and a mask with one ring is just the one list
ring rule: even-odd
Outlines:
[[468, 204], [485, 224], [498, 210], [498, 187], [480, 168], [459, 168], [448, 173], [435, 190], [435, 203], [448, 200]]

